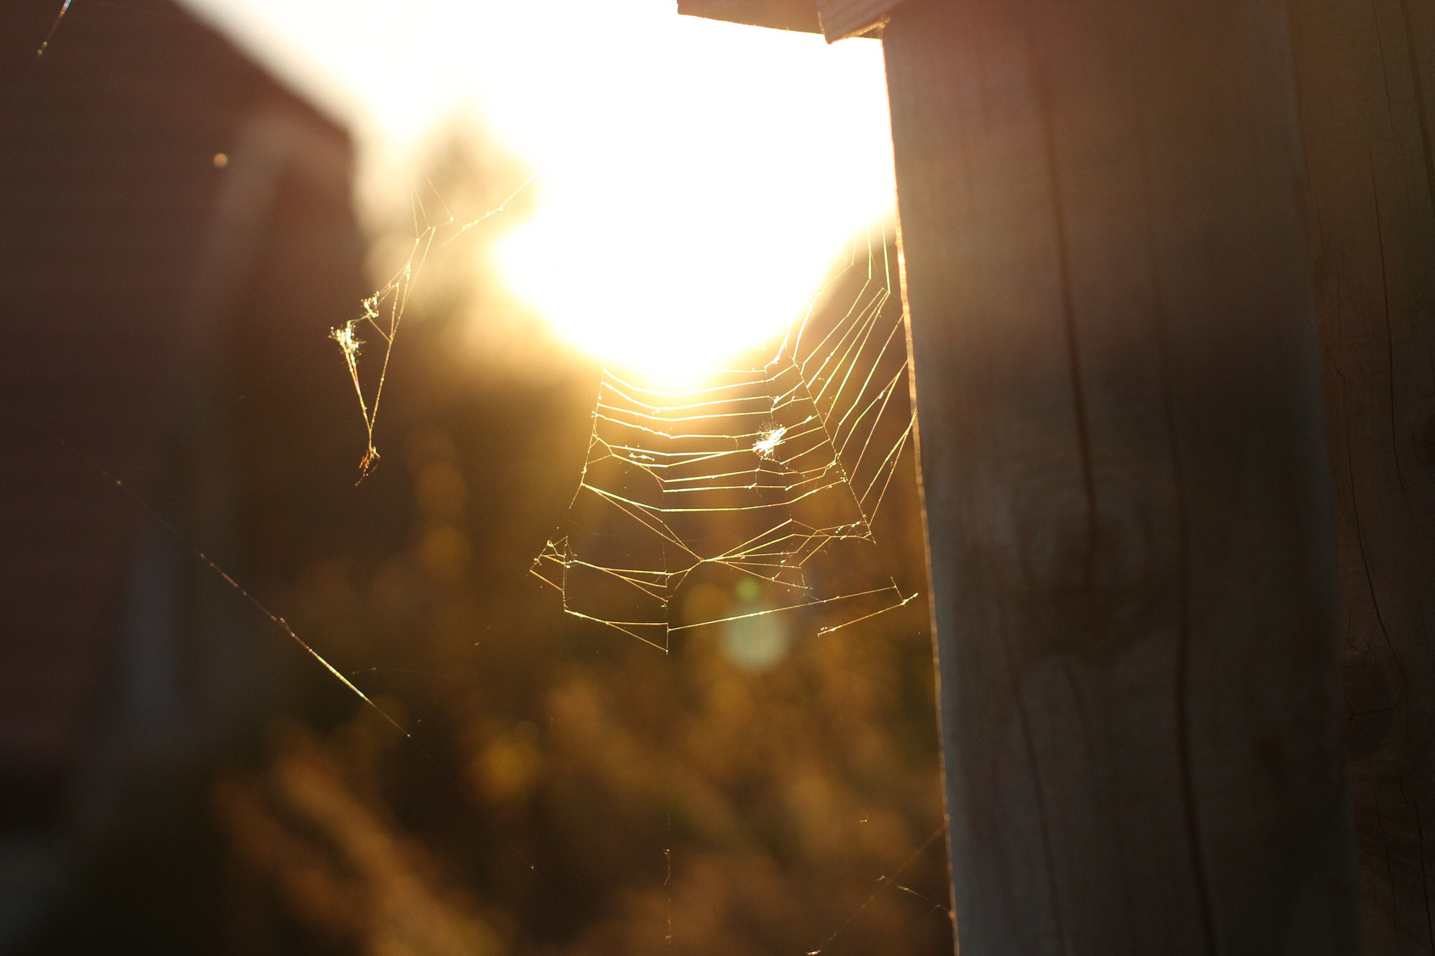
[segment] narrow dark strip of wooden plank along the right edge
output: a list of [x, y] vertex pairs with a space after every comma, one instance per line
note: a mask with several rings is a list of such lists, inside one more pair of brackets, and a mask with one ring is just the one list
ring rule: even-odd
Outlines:
[[1368, 956], [1435, 952], [1435, 3], [1293, 0]]

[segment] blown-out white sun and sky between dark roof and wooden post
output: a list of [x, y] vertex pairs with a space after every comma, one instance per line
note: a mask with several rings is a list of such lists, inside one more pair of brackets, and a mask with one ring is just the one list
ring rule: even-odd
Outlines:
[[667, 381], [799, 315], [893, 206], [881, 46], [673, 0], [191, 0], [243, 7], [390, 140], [469, 109], [540, 171], [497, 265], [552, 331]]

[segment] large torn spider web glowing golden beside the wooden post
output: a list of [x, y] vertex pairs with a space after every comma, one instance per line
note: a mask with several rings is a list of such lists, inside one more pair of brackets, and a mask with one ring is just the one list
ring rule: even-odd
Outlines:
[[696, 628], [785, 641], [910, 602], [872, 533], [913, 426], [895, 284], [885, 231], [867, 231], [776, 345], [703, 387], [606, 370], [564, 527], [532, 565], [564, 612], [669, 651]]

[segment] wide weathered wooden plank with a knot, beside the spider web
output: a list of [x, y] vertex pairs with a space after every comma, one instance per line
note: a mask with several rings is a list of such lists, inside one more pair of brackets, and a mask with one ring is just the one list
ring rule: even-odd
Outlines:
[[964, 952], [1353, 953], [1283, 3], [885, 44]]

